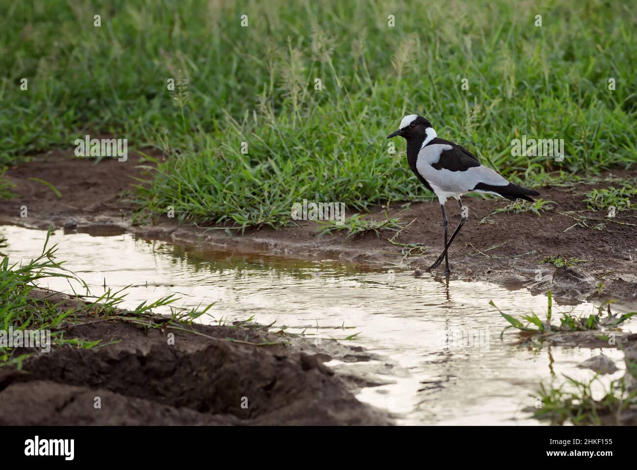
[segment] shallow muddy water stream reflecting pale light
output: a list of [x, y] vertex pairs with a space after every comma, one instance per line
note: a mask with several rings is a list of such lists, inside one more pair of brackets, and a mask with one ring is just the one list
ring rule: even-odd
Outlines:
[[[8, 238], [1, 250], [12, 262], [41, 252], [45, 233], [0, 227]], [[539, 383], [559, 385], [563, 374], [579, 380], [593, 373], [577, 364], [600, 350], [515, 344], [517, 334], [500, 333], [505, 320], [489, 305], [522, 315], [545, 316], [547, 298], [526, 290], [507, 290], [475, 281], [450, 281], [394, 268], [364, 269], [331, 260], [304, 262], [266, 253], [236, 255], [207, 252], [129, 235], [92, 237], [55, 232], [57, 257], [67, 260], [92, 294], [108, 287], [129, 288], [125, 306], [177, 294], [176, 306], [192, 308], [215, 302], [201, 321], [218, 323], [255, 317], [276, 322], [316, 342], [338, 339], [363, 346], [378, 359], [327, 365], [356, 371], [378, 383], [362, 388], [359, 399], [399, 415], [401, 424], [540, 424], [522, 411], [533, 407]], [[43, 287], [71, 292], [52, 279]], [[75, 285], [78, 293], [82, 289]], [[595, 306], [557, 306], [555, 311], [592, 313]], [[168, 309], [164, 308], [164, 312]], [[162, 311], [162, 310], [160, 310]], [[635, 330], [629, 322], [625, 330]], [[352, 335], [355, 335], [352, 338]], [[624, 372], [623, 355], [605, 350]]]

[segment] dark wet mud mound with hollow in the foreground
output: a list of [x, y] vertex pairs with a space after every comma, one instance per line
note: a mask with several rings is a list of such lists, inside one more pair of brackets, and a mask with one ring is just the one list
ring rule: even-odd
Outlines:
[[[64, 308], [81, 302], [38, 292]], [[355, 399], [351, 380], [323, 364], [368, 360], [362, 348], [322, 348], [259, 328], [126, 318], [122, 311], [78, 319], [64, 328], [64, 339], [101, 345], [22, 348], [34, 354], [21, 370], [0, 368], [0, 424], [392, 424], [387, 413]]]

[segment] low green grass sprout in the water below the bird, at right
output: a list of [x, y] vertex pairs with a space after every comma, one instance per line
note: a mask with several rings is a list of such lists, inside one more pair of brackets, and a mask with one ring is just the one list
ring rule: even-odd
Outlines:
[[497, 308], [494, 301], [489, 301], [489, 305], [496, 308], [499, 311], [500, 315], [505, 318], [510, 325], [505, 327], [500, 334], [500, 338], [503, 338], [503, 335], [506, 330], [509, 328], [519, 329], [522, 332], [526, 332], [527, 334], [553, 334], [553, 333], [562, 333], [562, 332], [573, 332], [573, 331], [590, 331], [596, 330], [599, 331], [602, 327], [606, 329], [615, 329], [619, 324], [622, 324], [629, 318], [637, 315], [637, 311], [631, 313], [624, 313], [620, 317], [617, 315], [613, 315], [610, 312], [610, 304], [607, 304], [608, 308], [608, 316], [603, 317], [603, 306], [599, 306], [597, 313], [592, 313], [590, 315], [582, 315], [580, 317], [576, 317], [575, 315], [571, 315], [571, 313], [562, 313], [559, 325], [554, 325], [551, 323], [553, 317], [553, 294], [549, 290], [547, 292], [547, 320], [543, 322], [538, 315], [536, 315], [533, 311], [531, 311], [530, 315], [522, 316], [522, 320], [526, 320], [526, 324], [512, 315], [508, 315], [504, 313], [499, 308]]

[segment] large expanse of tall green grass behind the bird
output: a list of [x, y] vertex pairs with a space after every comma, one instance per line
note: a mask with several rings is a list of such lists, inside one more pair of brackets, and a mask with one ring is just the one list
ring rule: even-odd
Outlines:
[[[406, 113], [505, 176], [637, 160], [627, 4], [557, 1], [542, 27], [532, 3], [505, 0], [453, 18], [445, 3], [396, 3], [396, 27], [377, 1], [114, 5], [0, 3], [0, 164], [108, 133], [169, 151], [138, 192], [155, 217], [173, 206], [182, 222], [281, 227], [303, 198], [355, 211], [431, 199], [404, 143], [385, 140]], [[562, 138], [569, 156], [513, 157], [522, 134]]]

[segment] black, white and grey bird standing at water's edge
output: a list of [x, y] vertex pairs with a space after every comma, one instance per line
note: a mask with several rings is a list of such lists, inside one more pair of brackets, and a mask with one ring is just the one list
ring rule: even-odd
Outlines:
[[[480, 161], [466, 148], [455, 142], [439, 139], [431, 122], [422, 116], [410, 114], [401, 120], [396, 132], [388, 139], [401, 136], [407, 141], [407, 161], [413, 173], [427, 189], [438, 196], [442, 209], [442, 225], [445, 228], [445, 249], [429, 269], [438, 267], [445, 259], [445, 274], [450, 273], [447, 250], [455, 236], [466, 222], [466, 211], [462, 210], [460, 196], [469, 191], [485, 192], [506, 197], [511, 201], [540, 196], [531, 189], [509, 183], [500, 174], [480, 164]], [[447, 240], [447, 214], [445, 201], [455, 197], [460, 204], [461, 220], [451, 238]]]

